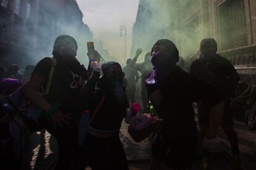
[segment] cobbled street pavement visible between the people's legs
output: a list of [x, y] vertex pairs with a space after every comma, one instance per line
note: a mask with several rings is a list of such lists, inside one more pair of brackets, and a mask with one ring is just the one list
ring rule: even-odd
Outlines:
[[[241, 152], [242, 166], [245, 170], [256, 169], [256, 133], [250, 131], [245, 124], [235, 122], [235, 130], [239, 137], [239, 149]], [[144, 170], [149, 169], [150, 161], [150, 140], [145, 139], [140, 143], [134, 142], [127, 132], [127, 124], [122, 123], [121, 141], [129, 161], [129, 169]], [[231, 153], [228, 139], [220, 129], [219, 137], [227, 153]], [[54, 164], [58, 159], [58, 145], [56, 139], [47, 131], [32, 134], [25, 142], [22, 156], [21, 169], [54, 169]], [[210, 169], [231, 169], [230, 155], [215, 155], [211, 160]], [[89, 168], [87, 168], [89, 169]], [[192, 169], [203, 169], [203, 161], [195, 160]]]

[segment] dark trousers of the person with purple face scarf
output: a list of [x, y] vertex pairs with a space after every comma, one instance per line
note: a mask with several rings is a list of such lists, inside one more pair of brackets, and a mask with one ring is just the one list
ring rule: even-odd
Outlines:
[[196, 132], [191, 136], [183, 137], [171, 137], [160, 132], [152, 144], [151, 154], [154, 159], [161, 161], [169, 168], [189, 169], [194, 161], [196, 149]]

